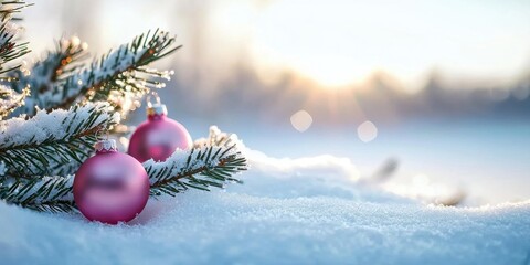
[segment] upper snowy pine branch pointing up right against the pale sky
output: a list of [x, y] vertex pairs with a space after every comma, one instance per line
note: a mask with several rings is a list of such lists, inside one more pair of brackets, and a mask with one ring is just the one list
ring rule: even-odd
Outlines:
[[66, 108], [76, 100], [106, 100], [121, 110], [124, 98], [138, 98], [150, 88], [163, 87], [163, 83], [152, 78], [169, 80], [170, 72], [150, 70], [147, 65], [181, 47], [173, 44], [174, 38], [158, 30], [135, 38], [68, 76], [60, 87], [63, 97], [52, 106]]

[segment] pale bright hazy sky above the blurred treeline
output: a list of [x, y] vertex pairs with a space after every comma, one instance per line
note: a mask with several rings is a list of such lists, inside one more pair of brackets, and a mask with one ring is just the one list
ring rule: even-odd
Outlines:
[[[528, 13], [530, 3], [518, 0], [54, 0], [28, 9], [24, 25], [38, 53], [53, 47], [50, 32], [55, 39], [78, 34], [102, 54], [147, 29], [168, 30], [183, 49], [159, 65], [195, 89], [215, 91], [245, 67], [264, 84], [290, 73], [322, 89], [359, 86], [384, 73], [413, 92], [432, 73], [460, 87], [505, 86], [528, 76]], [[50, 31], [40, 32], [43, 25]]]

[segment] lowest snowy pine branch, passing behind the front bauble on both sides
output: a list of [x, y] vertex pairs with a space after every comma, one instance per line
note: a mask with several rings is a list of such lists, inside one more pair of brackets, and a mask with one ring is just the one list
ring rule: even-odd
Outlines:
[[[174, 195], [189, 188], [208, 190], [224, 183], [240, 182], [233, 174], [246, 170], [243, 144], [235, 136], [210, 129], [208, 139], [195, 141], [193, 150], [177, 150], [165, 162], [144, 162], [151, 183], [150, 194]], [[1, 178], [1, 177], [0, 177]], [[36, 211], [72, 212], [76, 210], [72, 195], [73, 176], [14, 179], [0, 181], [0, 199]]]

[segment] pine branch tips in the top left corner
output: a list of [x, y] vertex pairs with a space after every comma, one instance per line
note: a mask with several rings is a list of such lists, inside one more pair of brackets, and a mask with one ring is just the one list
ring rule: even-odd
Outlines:
[[23, 1], [1, 1], [0, 2], [0, 74], [20, 67], [20, 64], [7, 65], [29, 53], [28, 42], [17, 43], [20, 28], [11, 22], [12, 14], [19, 12], [20, 9], [28, 7]]

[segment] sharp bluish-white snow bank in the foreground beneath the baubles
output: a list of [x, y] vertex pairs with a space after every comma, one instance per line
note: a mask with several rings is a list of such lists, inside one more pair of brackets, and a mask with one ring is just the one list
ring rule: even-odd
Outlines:
[[348, 159], [276, 159], [129, 224], [0, 203], [0, 264], [528, 264], [530, 201], [444, 208], [359, 181]]

